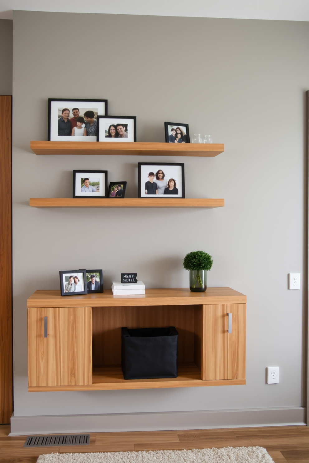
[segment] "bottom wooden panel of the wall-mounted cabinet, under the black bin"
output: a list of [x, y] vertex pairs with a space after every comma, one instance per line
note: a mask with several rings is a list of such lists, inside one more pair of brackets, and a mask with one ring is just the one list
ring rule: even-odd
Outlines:
[[30, 386], [29, 392], [42, 391], [99, 391], [112, 389], [195, 388], [197, 386], [231, 386], [246, 384], [246, 379], [202, 381], [195, 363], [178, 366], [177, 378], [123, 379], [120, 366], [94, 368], [92, 384], [84, 386]]

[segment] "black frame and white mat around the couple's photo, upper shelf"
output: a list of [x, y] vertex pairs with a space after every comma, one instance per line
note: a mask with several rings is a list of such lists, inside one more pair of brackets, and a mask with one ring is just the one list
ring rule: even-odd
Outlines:
[[[125, 121], [128, 120], [128, 123], [125, 123]], [[129, 122], [131, 120], [131, 122]], [[97, 118], [98, 121], [98, 127], [97, 127], [97, 132], [96, 132], [96, 141], [97, 142], [120, 142], [120, 143], [126, 143], [126, 142], [136, 142], [136, 116], [98, 116]], [[115, 138], [109, 138], [106, 136], [106, 126], [109, 125], [117, 125], [121, 124], [121, 122], [124, 123], [124, 125], [128, 126], [130, 124], [130, 129], [128, 130], [128, 137], [127, 138], [121, 138], [121, 137], [115, 137]], [[133, 136], [132, 132], [133, 131]], [[117, 134], [116, 134], [117, 135]]]

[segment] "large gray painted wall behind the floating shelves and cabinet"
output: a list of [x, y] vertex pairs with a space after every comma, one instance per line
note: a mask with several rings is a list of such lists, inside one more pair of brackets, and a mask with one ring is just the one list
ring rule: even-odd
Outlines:
[[[13, 271], [15, 416], [169, 412], [303, 405], [304, 91], [309, 24], [237, 19], [14, 12]], [[138, 141], [164, 141], [164, 121], [225, 143], [215, 158], [35, 156], [47, 99], [107, 98], [137, 116]], [[137, 197], [138, 161], [185, 163], [188, 198], [224, 208], [35, 209], [71, 197], [73, 169], [107, 169]], [[95, 238], [92, 238], [95, 231]], [[133, 245], [126, 244], [130, 232]], [[209, 252], [208, 286], [248, 296], [246, 386], [27, 392], [26, 299], [59, 288], [59, 270], [121, 269], [147, 288], [188, 287], [183, 256]], [[265, 384], [278, 365], [280, 383]]]

